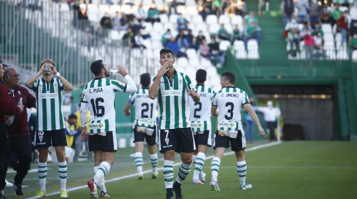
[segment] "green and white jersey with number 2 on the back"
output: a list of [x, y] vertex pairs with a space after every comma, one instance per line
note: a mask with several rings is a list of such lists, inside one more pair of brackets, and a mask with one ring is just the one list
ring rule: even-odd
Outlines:
[[191, 129], [194, 132], [211, 130], [211, 103], [216, 92], [212, 88], [202, 85], [196, 85], [195, 88], [197, 94], [200, 95], [200, 101], [195, 103], [191, 96], [188, 97]]

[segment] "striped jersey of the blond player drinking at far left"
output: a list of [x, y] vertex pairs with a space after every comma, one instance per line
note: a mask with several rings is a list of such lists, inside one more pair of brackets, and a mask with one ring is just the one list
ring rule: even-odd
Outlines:
[[37, 79], [31, 88], [36, 94], [36, 131], [52, 131], [65, 128], [62, 114], [63, 84], [58, 78], [47, 83]]

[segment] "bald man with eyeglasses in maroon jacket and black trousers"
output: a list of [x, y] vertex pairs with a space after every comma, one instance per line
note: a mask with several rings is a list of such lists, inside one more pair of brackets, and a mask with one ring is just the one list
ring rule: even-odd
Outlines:
[[[11, 106], [17, 106], [20, 98], [22, 98], [24, 107], [36, 107], [36, 98], [26, 88], [19, 85], [20, 74], [15, 68], [6, 68], [3, 79], [10, 97]], [[15, 195], [24, 195], [21, 190], [21, 184], [31, 163], [31, 138], [27, 123], [27, 111], [15, 114], [13, 120], [9, 117], [5, 124], [9, 134], [6, 159], [9, 160], [10, 154], [14, 151], [19, 161], [14, 178], [15, 182], [11, 188], [15, 191]], [[5, 163], [5, 177], [6, 171], [7, 163]], [[4, 183], [4, 180], [1, 179], [1, 183]]]

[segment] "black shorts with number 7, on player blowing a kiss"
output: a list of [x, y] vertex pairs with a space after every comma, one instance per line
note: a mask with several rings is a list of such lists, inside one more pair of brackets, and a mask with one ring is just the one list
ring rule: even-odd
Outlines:
[[160, 153], [170, 150], [175, 150], [177, 153], [192, 153], [196, 151], [191, 127], [167, 130], [160, 129], [159, 138]]

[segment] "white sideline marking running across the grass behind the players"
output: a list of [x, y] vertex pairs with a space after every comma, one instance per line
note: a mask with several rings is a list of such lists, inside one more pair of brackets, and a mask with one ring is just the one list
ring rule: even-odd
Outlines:
[[[251, 147], [251, 148], [247, 148], [245, 150], [245, 152], [248, 152], [248, 151], [254, 151], [254, 150], [258, 150], [258, 149], [261, 149], [261, 148], [265, 148], [265, 147], [270, 147], [270, 146], [274, 146], [274, 145], [278, 145], [282, 143], [281, 141], [277, 141], [277, 142], [270, 142], [270, 143], [266, 143], [266, 144], [263, 144], [263, 145], [258, 145], [258, 146], [255, 146], [255, 147]], [[232, 155], [234, 154], [234, 151], [231, 151], [231, 152], [227, 152], [227, 153], [224, 153], [223, 156], [228, 156], [228, 155]], [[215, 157], [214, 155], [212, 156], [207, 156], [205, 159], [212, 159], [213, 157]], [[178, 163], [175, 163], [174, 164], [174, 167], [175, 166], [178, 166], [180, 165], [181, 162], [178, 162]], [[157, 168], [157, 171], [160, 171], [162, 170], [163, 167], [160, 167], [160, 168]], [[152, 170], [146, 170], [146, 171], [143, 171], [142, 174], [145, 174], [145, 173], [150, 173], [152, 172]], [[122, 176], [122, 177], [118, 177], [118, 178], [113, 178], [113, 179], [110, 179], [110, 180], [105, 180], [105, 182], [113, 182], [113, 181], [117, 181], [117, 180], [121, 180], [121, 179], [125, 179], [125, 178], [131, 178], [131, 177], [135, 177], [137, 176], [137, 173], [133, 173], [133, 174], [130, 174], [130, 175], [126, 175], [126, 176]], [[74, 190], [78, 190], [78, 189], [83, 189], [83, 188], [87, 188], [87, 185], [83, 185], [83, 186], [79, 186], [79, 187], [74, 187], [74, 188], [70, 188], [70, 189], [67, 189], [67, 192], [71, 192], [71, 191], [74, 191]], [[49, 193], [49, 194], [46, 194], [47, 196], [49, 195], [56, 195], [56, 194], [60, 194], [60, 192], [53, 192], [53, 193]], [[34, 197], [31, 197], [31, 198], [26, 198], [26, 199], [32, 199]]]

